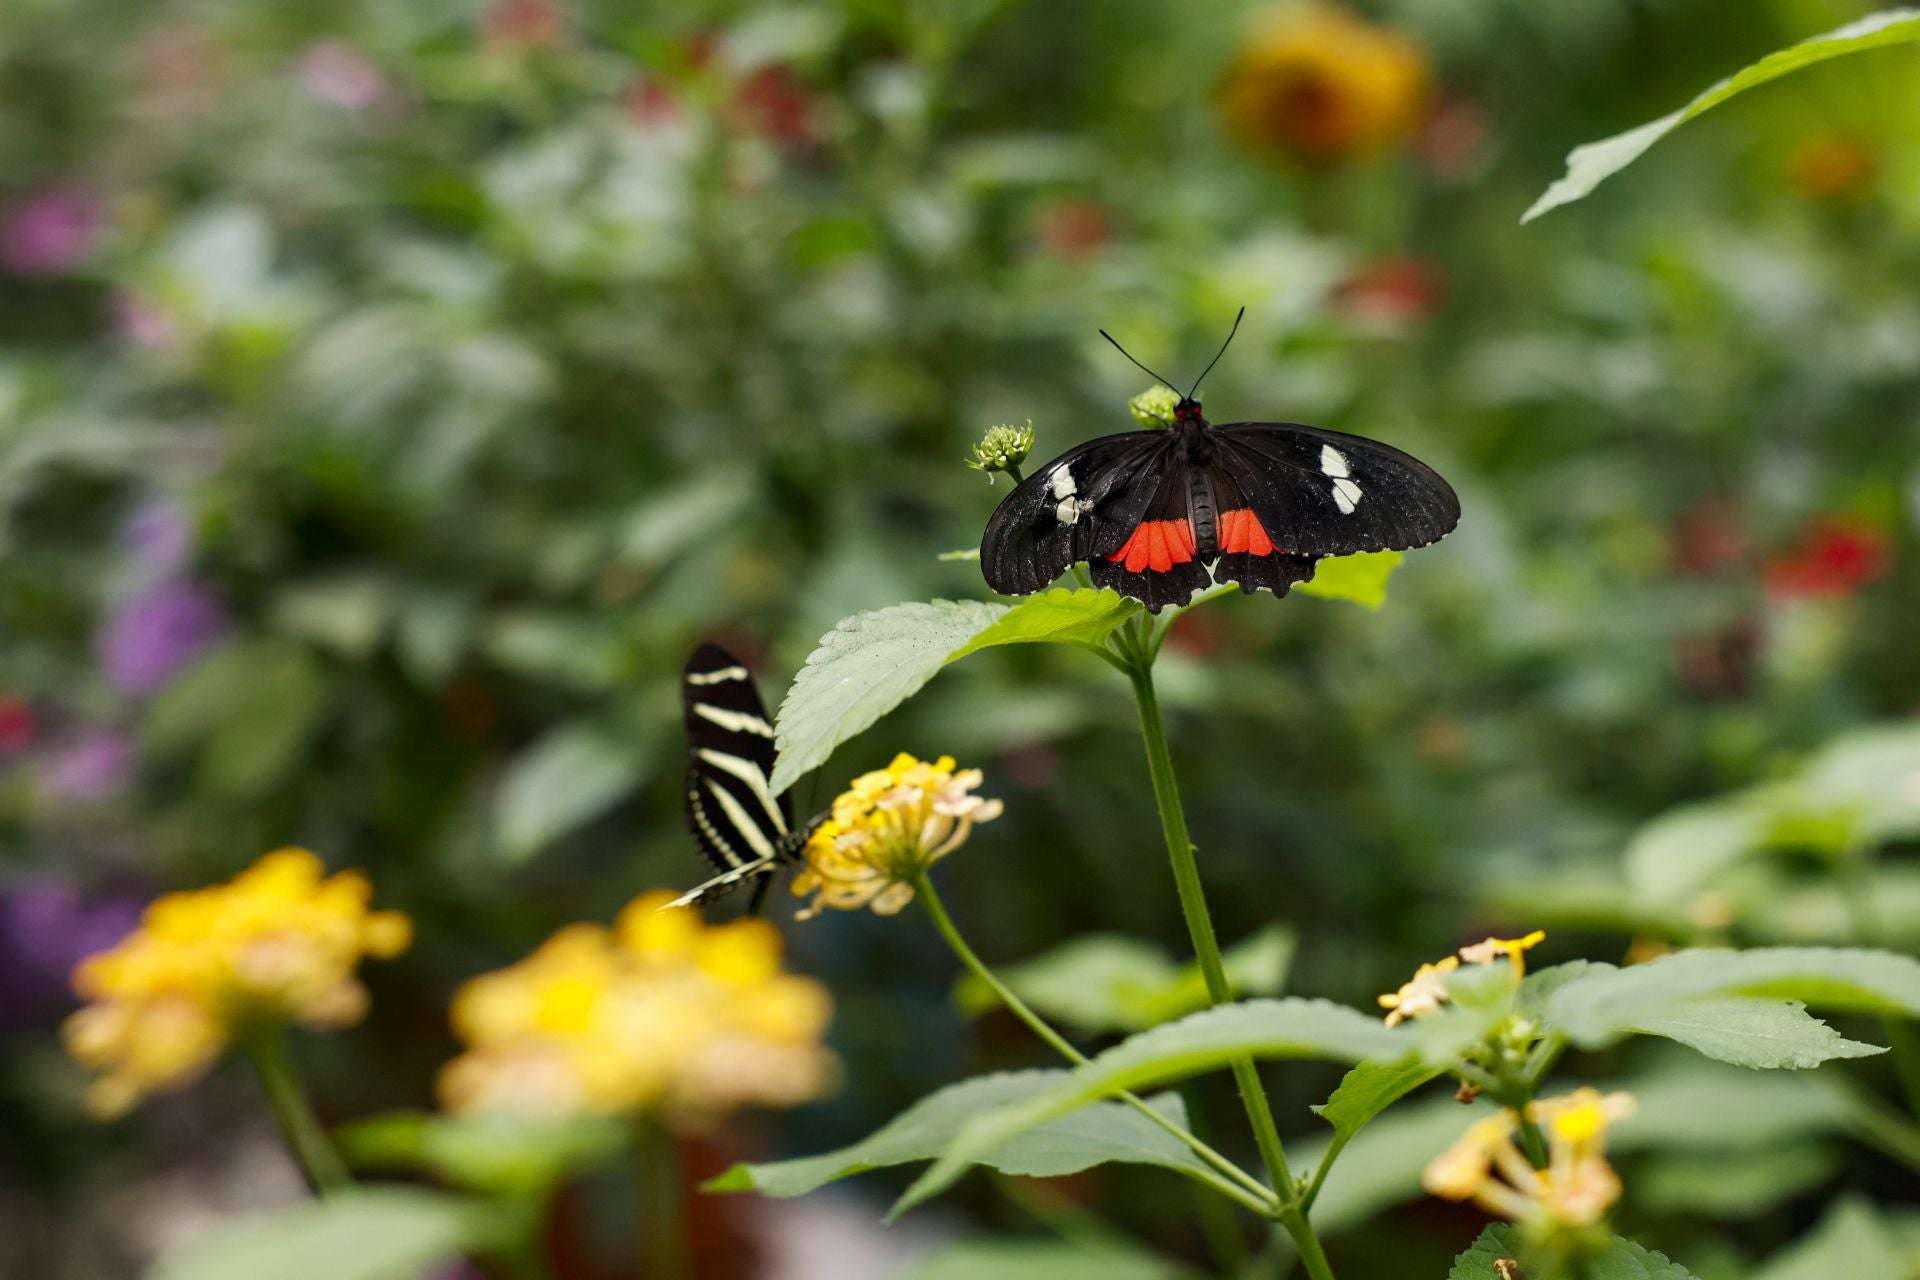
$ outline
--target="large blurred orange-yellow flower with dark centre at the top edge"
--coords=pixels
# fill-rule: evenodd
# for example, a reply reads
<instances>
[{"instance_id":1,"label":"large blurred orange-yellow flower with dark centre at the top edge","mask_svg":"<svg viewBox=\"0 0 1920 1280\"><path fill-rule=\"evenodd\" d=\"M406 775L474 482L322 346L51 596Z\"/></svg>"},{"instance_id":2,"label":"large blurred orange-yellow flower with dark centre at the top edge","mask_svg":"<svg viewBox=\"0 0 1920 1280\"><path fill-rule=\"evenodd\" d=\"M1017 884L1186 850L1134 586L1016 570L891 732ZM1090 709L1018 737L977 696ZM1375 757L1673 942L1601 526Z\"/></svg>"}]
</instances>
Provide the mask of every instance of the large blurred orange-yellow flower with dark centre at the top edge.
<instances>
[{"instance_id":1,"label":"large blurred orange-yellow flower with dark centre at the top edge","mask_svg":"<svg viewBox=\"0 0 1920 1280\"><path fill-rule=\"evenodd\" d=\"M1334 4L1263 15L1219 86L1221 117L1242 142L1315 163L1396 142L1425 102L1421 50Z\"/></svg>"}]
</instances>

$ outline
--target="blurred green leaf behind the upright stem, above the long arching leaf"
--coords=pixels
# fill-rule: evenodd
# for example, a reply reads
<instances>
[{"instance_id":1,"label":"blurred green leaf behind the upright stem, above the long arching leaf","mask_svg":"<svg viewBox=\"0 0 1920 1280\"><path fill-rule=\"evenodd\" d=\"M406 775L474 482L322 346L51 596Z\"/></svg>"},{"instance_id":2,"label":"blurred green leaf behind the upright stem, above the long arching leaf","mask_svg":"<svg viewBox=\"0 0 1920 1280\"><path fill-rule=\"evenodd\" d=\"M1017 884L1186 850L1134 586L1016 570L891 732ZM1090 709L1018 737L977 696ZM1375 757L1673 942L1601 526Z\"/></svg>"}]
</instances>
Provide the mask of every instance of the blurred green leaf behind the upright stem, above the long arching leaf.
<instances>
[{"instance_id":1,"label":"blurred green leaf behind the upright stem, above the long arching leaf","mask_svg":"<svg viewBox=\"0 0 1920 1280\"><path fill-rule=\"evenodd\" d=\"M1294 935L1269 925L1225 954L1235 998L1273 996L1286 983ZM1160 948L1117 933L1096 933L1004 969L1000 979L1021 1000L1083 1034L1146 1031L1208 1007L1198 963L1177 965ZM979 979L960 983L960 1006L970 1013L998 1007Z\"/></svg>"}]
</instances>

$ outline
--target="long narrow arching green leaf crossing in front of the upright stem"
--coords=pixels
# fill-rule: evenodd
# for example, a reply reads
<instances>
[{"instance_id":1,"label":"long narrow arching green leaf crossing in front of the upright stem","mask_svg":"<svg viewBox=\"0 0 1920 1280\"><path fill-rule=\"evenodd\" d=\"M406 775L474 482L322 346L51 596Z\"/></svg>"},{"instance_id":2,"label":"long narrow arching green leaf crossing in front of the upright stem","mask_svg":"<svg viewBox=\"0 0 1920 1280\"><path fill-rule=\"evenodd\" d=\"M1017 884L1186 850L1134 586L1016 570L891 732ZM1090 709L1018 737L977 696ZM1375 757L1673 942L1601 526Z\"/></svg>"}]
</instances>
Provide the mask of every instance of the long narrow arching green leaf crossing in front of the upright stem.
<instances>
[{"instance_id":1,"label":"long narrow arching green leaf crossing in front of the upright stem","mask_svg":"<svg viewBox=\"0 0 1920 1280\"><path fill-rule=\"evenodd\" d=\"M1221 1067L1236 1057L1323 1057L1392 1061L1411 1048L1379 1019L1325 1000L1248 1000L1144 1031L1066 1073L1023 1102L968 1121L939 1163L893 1205L891 1217L943 1192L1002 1146L1087 1103Z\"/></svg>"}]
</instances>

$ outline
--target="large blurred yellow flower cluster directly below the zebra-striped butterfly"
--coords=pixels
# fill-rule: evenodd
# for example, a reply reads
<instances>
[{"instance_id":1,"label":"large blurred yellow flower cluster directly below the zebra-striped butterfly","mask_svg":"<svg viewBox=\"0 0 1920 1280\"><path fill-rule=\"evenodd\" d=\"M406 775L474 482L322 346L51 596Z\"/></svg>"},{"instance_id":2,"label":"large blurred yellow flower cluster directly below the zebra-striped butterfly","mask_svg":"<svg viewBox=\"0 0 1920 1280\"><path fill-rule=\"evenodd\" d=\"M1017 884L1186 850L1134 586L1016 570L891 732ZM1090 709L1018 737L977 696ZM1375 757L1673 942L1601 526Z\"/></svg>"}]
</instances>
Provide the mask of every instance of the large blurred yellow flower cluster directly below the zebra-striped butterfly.
<instances>
[{"instance_id":1,"label":"large blurred yellow flower cluster directly below the zebra-striped butterfly","mask_svg":"<svg viewBox=\"0 0 1920 1280\"><path fill-rule=\"evenodd\" d=\"M570 925L520 963L467 983L453 1029L468 1046L440 1077L453 1111L624 1115L691 1128L739 1105L818 1098L837 1067L822 1046L826 990L781 973L780 933L708 927L672 892L626 906L612 929Z\"/></svg>"}]
</instances>

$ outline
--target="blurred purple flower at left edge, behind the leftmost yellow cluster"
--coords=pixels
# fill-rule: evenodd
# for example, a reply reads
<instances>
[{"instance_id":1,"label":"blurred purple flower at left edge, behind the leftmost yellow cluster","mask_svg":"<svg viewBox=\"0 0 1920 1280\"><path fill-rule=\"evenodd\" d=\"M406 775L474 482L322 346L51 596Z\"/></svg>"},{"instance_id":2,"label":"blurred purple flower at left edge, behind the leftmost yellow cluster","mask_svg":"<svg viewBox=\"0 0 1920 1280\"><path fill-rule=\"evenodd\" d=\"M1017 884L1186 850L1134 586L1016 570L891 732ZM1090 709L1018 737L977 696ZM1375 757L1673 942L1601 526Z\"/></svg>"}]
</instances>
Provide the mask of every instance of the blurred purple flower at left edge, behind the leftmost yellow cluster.
<instances>
[{"instance_id":1,"label":"blurred purple flower at left edge, behind the leftmost yellow cluster","mask_svg":"<svg viewBox=\"0 0 1920 1280\"><path fill-rule=\"evenodd\" d=\"M140 923L132 894L86 896L52 875L0 889L0 1031L69 1000L73 965Z\"/></svg>"}]
</instances>

